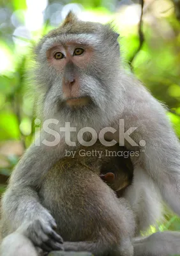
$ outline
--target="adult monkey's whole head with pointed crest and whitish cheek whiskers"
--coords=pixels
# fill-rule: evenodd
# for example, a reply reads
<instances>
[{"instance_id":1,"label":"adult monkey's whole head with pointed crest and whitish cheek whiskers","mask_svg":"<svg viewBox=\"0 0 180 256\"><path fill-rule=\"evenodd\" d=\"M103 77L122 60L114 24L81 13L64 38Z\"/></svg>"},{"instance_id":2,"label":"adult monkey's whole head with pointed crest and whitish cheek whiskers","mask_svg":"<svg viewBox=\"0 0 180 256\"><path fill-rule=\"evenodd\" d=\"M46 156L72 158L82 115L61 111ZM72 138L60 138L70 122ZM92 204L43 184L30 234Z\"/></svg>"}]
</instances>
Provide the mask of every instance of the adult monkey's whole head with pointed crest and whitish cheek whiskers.
<instances>
[{"instance_id":1,"label":"adult monkey's whole head with pointed crest and whitish cheek whiskers","mask_svg":"<svg viewBox=\"0 0 180 256\"><path fill-rule=\"evenodd\" d=\"M35 74L45 115L74 117L109 106L119 70L118 36L109 24L84 22L70 12L40 40Z\"/></svg>"}]
</instances>

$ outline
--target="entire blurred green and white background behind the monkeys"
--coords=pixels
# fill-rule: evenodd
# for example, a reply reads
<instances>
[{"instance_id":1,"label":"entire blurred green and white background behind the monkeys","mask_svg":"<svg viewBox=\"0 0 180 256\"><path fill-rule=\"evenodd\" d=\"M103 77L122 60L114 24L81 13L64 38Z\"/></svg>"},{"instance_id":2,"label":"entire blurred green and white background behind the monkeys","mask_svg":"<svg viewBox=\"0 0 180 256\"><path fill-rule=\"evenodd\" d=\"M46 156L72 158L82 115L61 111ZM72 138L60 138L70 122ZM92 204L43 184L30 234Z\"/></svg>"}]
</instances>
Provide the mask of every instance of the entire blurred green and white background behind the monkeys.
<instances>
[{"instance_id":1,"label":"entire blurred green and white background behind the monkeys","mask_svg":"<svg viewBox=\"0 0 180 256\"><path fill-rule=\"evenodd\" d=\"M82 20L113 21L124 65L167 105L180 137L180 0L0 0L0 194L38 129L36 90L26 79L30 48L70 10ZM180 230L179 219L167 211L149 232L157 229Z\"/></svg>"}]
</instances>

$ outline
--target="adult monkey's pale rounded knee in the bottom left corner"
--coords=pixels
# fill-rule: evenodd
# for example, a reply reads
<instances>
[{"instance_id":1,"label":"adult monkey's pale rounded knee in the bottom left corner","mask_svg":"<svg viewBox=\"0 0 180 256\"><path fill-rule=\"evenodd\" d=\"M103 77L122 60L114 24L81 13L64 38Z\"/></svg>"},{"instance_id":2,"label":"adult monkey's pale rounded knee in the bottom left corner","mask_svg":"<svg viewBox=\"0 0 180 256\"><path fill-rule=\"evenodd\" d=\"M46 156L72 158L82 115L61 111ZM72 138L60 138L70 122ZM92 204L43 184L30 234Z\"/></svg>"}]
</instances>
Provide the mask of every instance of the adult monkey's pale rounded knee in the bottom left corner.
<instances>
[{"instance_id":1,"label":"adult monkey's pale rounded knee in the bottom left corner","mask_svg":"<svg viewBox=\"0 0 180 256\"><path fill-rule=\"evenodd\" d=\"M41 251L33 243L17 232L6 236L0 245L1 256L40 256Z\"/></svg>"}]
</instances>

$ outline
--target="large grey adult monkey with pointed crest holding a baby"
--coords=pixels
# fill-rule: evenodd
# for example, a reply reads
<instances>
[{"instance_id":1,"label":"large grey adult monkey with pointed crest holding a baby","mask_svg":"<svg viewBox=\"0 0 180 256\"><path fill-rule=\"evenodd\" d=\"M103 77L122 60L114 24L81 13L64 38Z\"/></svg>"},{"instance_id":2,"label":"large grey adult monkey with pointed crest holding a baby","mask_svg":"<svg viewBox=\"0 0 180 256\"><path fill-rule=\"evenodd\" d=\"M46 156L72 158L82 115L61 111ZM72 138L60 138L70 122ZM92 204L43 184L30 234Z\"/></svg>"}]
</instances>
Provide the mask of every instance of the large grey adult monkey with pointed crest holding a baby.
<instances>
[{"instance_id":1,"label":"large grey adult monkey with pointed crest holding a baby","mask_svg":"<svg viewBox=\"0 0 180 256\"><path fill-rule=\"evenodd\" d=\"M139 217L138 227L142 229L153 215L155 218L159 214L157 202L157 207L148 208L150 212L146 220L140 218L144 204L154 204L150 195L153 191L155 198L158 188L164 200L180 214L180 147L163 106L133 76L127 75L123 67L119 68L119 57L117 34L110 26L81 22L70 13L63 25L51 31L36 47L36 82L41 85L44 118L59 120L54 127L58 131L65 122L77 127L77 132L88 126L98 134L110 126L117 132L113 129L114 133L108 138L121 144L124 134L119 136L119 119L124 119L125 131L138 127L131 134L133 140L126 132L126 147L143 150L134 161L134 182L124 196L130 202L136 202L142 197L138 194L141 191L139 186L145 186L142 205L132 204ZM77 132L72 134L74 141L77 141ZM42 139L53 140L52 137L41 132ZM141 140L146 141L145 147L141 146ZM3 212L12 231L37 216L40 221L49 223L49 228L54 225L49 213L38 202L36 188L52 164L64 156L66 149L69 147L61 132L59 145L45 147L41 144L37 147L33 144L24 154L3 198ZM139 184L139 179L143 180L143 185ZM149 190L148 198L150 186L154 190ZM172 234L168 234L169 241L172 241ZM179 233L177 237L180 237ZM162 239L164 236L160 234L160 243ZM148 243L146 245L147 250L144 249L142 255L151 251L152 244L150 248ZM158 250L156 255L161 253ZM165 253L179 253L179 244L176 243L174 248L169 246L168 250L165 248Z\"/></svg>"}]
</instances>

